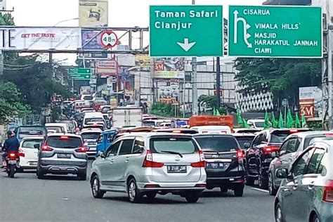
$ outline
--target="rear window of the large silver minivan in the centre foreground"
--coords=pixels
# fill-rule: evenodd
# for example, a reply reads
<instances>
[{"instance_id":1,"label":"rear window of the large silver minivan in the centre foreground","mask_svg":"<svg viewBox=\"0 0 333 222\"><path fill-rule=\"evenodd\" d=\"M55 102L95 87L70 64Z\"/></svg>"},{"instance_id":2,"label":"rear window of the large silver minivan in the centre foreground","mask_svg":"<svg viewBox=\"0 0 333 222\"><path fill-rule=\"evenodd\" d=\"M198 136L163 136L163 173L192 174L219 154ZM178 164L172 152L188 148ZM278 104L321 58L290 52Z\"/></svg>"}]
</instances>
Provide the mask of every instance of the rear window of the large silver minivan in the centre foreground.
<instances>
[{"instance_id":1,"label":"rear window of the large silver minivan in the centre foreground","mask_svg":"<svg viewBox=\"0 0 333 222\"><path fill-rule=\"evenodd\" d=\"M178 152L181 154L189 154L199 151L199 148L192 141L192 138L185 137L158 137L150 139L150 150L153 153Z\"/></svg>"}]
</instances>

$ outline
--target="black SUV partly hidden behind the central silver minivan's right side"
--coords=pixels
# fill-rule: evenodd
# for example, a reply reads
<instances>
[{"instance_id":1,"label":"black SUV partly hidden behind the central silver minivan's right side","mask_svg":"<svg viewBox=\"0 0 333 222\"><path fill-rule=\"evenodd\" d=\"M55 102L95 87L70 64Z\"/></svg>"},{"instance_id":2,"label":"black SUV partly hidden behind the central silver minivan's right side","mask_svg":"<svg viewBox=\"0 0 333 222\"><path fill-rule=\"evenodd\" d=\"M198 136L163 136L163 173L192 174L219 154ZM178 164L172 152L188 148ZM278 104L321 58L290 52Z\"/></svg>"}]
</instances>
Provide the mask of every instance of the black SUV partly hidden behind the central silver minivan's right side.
<instances>
[{"instance_id":1,"label":"black SUV partly hidden behind the central silver minivan's right side","mask_svg":"<svg viewBox=\"0 0 333 222\"><path fill-rule=\"evenodd\" d=\"M243 152L236 138L223 134L196 134L193 136L204 152L207 189L221 192L234 190L241 197L244 190Z\"/></svg>"}]
</instances>

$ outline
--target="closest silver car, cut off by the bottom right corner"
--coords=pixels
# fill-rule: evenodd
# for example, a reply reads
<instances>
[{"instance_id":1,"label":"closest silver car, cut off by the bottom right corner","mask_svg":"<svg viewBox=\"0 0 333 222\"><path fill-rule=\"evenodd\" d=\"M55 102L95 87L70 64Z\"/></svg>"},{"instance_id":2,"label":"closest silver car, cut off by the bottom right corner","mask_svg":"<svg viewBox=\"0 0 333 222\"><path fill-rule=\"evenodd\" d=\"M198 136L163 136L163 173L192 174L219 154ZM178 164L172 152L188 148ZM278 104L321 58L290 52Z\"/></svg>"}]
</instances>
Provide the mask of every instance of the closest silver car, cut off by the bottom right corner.
<instances>
[{"instance_id":1,"label":"closest silver car, cut off by the bottom right corner","mask_svg":"<svg viewBox=\"0 0 333 222\"><path fill-rule=\"evenodd\" d=\"M333 141L313 143L287 168L275 197L275 221L333 221Z\"/></svg>"}]
</instances>

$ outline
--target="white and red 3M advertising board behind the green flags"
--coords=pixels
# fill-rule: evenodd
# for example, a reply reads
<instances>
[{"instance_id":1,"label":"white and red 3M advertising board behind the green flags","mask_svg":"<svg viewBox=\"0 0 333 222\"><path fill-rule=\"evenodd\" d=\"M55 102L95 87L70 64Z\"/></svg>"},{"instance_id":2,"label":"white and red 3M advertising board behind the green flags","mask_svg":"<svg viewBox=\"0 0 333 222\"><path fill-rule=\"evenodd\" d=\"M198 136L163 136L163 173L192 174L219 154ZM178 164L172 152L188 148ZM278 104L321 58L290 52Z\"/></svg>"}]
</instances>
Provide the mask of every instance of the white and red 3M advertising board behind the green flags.
<instances>
[{"instance_id":1,"label":"white and red 3M advertising board behind the green flags","mask_svg":"<svg viewBox=\"0 0 333 222\"><path fill-rule=\"evenodd\" d=\"M322 90L317 86L299 88L299 110L306 118L322 117Z\"/></svg>"}]
</instances>

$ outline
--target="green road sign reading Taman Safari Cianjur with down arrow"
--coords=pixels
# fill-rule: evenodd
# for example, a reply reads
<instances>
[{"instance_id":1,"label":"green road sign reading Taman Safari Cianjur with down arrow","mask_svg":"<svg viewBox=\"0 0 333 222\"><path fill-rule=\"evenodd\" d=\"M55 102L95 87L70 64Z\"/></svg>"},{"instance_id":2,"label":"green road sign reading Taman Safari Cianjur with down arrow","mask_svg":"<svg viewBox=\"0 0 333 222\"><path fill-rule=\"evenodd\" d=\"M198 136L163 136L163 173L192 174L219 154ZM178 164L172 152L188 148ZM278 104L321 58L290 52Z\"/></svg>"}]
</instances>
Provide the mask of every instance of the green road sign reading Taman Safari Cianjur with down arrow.
<instances>
[{"instance_id":1,"label":"green road sign reading Taman Safari Cianjur with down arrow","mask_svg":"<svg viewBox=\"0 0 333 222\"><path fill-rule=\"evenodd\" d=\"M221 56L222 31L222 6L150 6L150 56Z\"/></svg>"}]
</instances>

